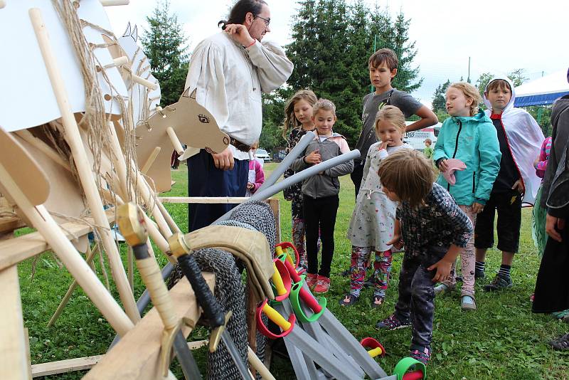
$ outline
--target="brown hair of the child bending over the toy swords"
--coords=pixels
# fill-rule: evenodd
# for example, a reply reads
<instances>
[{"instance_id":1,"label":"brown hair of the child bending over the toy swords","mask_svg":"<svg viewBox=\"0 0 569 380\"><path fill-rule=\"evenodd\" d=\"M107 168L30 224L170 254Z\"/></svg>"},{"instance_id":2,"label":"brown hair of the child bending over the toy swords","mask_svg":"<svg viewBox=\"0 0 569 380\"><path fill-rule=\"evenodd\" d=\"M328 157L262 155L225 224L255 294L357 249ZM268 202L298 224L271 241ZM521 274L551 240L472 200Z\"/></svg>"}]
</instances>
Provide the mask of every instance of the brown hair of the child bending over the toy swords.
<instances>
[{"instance_id":1,"label":"brown hair of the child bending over the toy swords","mask_svg":"<svg viewBox=\"0 0 569 380\"><path fill-rule=\"evenodd\" d=\"M415 149L400 149L390 154L381 161L378 175L385 188L412 207L424 204L435 181L432 163Z\"/></svg>"}]
</instances>

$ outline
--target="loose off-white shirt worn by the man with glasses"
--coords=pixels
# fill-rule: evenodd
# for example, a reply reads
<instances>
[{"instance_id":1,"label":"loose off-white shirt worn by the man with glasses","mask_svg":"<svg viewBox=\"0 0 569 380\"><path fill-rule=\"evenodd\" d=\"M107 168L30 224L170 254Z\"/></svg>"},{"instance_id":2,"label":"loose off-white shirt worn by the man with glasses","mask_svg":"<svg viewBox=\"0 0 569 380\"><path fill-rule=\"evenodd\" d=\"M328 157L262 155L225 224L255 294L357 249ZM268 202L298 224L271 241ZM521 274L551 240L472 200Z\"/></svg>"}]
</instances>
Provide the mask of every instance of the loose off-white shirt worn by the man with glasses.
<instances>
[{"instance_id":1,"label":"loose off-white shirt worn by the man with glasses","mask_svg":"<svg viewBox=\"0 0 569 380\"><path fill-rule=\"evenodd\" d=\"M186 88L197 88L196 101L216 118L220 130L251 145L261 134L261 93L279 88L292 73L292 62L275 43L243 48L228 33L215 34L194 49ZM235 159L248 159L229 145ZM198 151L184 154L183 159Z\"/></svg>"}]
</instances>

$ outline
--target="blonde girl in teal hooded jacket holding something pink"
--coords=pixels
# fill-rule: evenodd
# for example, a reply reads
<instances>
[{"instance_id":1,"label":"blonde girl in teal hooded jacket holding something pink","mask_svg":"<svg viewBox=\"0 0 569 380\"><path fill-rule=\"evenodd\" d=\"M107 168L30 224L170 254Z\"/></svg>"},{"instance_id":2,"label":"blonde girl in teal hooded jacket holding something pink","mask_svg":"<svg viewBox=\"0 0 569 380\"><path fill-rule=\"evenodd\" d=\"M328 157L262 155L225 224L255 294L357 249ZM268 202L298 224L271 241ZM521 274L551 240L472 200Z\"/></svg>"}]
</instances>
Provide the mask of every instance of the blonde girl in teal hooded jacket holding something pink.
<instances>
[{"instance_id":1,"label":"blonde girl in teal hooded jacket holding something pink","mask_svg":"<svg viewBox=\"0 0 569 380\"><path fill-rule=\"evenodd\" d=\"M447 112L451 116L442 123L433 160L441 172L447 171L447 159L459 159L466 169L455 171L456 182L451 185L440 174L437 183L444 186L454 197L460 209L472 221L490 197L494 180L500 170L500 146L496 128L484 112L478 112L482 101L473 85L453 83L447 90ZM474 300L474 236L460 253L462 260L463 310L476 310ZM454 267L445 282L435 287L435 293L447 292L456 285Z\"/></svg>"}]
</instances>

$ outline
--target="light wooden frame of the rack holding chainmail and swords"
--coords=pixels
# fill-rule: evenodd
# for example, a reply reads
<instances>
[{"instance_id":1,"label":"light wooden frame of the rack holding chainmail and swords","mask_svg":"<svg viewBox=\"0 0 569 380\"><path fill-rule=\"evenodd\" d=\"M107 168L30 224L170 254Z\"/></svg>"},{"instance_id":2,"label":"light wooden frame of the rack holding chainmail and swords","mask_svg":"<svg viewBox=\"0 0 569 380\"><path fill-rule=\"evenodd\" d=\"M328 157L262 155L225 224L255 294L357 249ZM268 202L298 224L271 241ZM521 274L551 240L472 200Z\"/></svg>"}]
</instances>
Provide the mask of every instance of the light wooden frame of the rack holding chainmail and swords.
<instances>
[{"instance_id":1,"label":"light wooden frame of the rack holding chainmail and swords","mask_svg":"<svg viewBox=\"0 0 569 380\"><path fill-rule=\"evenodd\" d=\"M192 199L187 197L161 198L163 202L171 203L241 203L245 199ZM269 199L275 221L277 222L277 241L280 241L280 207L278 199ZM114 210L106 211L108 223L112 222ZM63 231L68 238L75 236L85 236L90 233L90 228L82 223L64 223ZM73 234L73 235L72 235ZM0 241L0 286L4 289L4 305L11 305L6 311L3 321L11 327L1 327L2 338L0 342L0 378L1 379L30 379L38 376L50 374L60 374L69 371L80 371L91 369L85 379L159 379L159 352L160 338L163 328L162 322L154 308L137 323L134 328L129 329L124 334L119 344L117 344L107 355L97 355L93 357L83 357L67 359L62 361L52 361L41 364L30 364L28 337L23 329L21 300L19 297L19 282L16 266L21 261L39 255L50 249L49 244L43 239L40 233L28 233L18 238L10 238ZM214 275L204 273L208 285L213 289ZM189 293L188 293L189 292ZM191 317L197 321L199 317L195 299L189 295L191 286L186 279L181 280L172 290L171 296L176 303L176 312L180 317ZM9 297L9 300L8 300ZM248 300L248 342L253 352L256 350L256 324L254 300ZM8 322L9 321L9 322ZM4 323L3 322L3 323ZM18 327L19 326L19 327ZM14 328L16 327L16 328ZM183 329L184 336L188 336L191 328ZM6 334L9 334L8 337ZM193 345L188 343L188 345ZM142 351L141 351L142 350ZM144 354L142 354L144 352ZM266 361L265 361L266 364ZM129 369L126 371L125 369ZM131 376L136 374L135 376ZM156 376L154 376L156 375Z\"/></svg>"}]
</instances>

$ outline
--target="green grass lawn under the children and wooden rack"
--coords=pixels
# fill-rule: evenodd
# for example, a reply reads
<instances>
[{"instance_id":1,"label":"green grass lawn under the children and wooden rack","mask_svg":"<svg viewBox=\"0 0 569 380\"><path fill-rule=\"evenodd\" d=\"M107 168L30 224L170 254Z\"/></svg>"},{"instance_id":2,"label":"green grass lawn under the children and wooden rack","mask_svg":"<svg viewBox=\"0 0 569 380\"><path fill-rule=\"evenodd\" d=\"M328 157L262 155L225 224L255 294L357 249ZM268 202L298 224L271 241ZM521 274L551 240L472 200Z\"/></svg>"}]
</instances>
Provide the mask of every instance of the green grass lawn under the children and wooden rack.
<instances>
[{"instance_id":1,"label":"green grass lawn under the children and wooden rack","mask_svg":"<svg viewBox=\"0 0 569 380\"><path fill-rule=\"evenodd\" d=\"M275 167L276 164L265 164L265 176ZM172 176L176 184L165 195L185 196L186 166L181 165L179 170L172 171ZM277 197L281 201L282 241L290 241L290 205L282 199L282 194ZM351 246L346 239L346 229L353 205L353 184L349 176L344 176L341 178L340 208L336 218L336 250L331 290L327 295L328 305L356 339L375 337L383 344L387 356L379 359L379 363L389 374L399 359L408 354L411 332L410 329L378 332L374 325L377 320L393 312L402 255L396 254L394 257L393 280L385 304L378 310L371 309L371 290L363 290L360 301L353 307L338 305L339 298L349 290L349 279L342 278L339 273L349 266ZM186 205L166 204L166 209L180 228L186 231ZM124 247L122 253L124 257ZM514 287L499 294L485 293L480 285L491 280L494 270L499 268L500 259L497 250L489 251L486 264L488 278L477 283L477 312L460 310L458 292L437 297L433 356L427 366L428 379L569 379L569 352L555 352L546 344L548 339L567 332L569 325L547 315L531 313L529 297L539 267L531 239L531 210L523 210L520 252L516 255L512 270ZM162 265L165 264L161 256L159 260ZM18 272L32 364L104 354L115 334L80 289L76 290L57 324L51 329L46 327L73 278L65 268L58 267L53 256L44 254L38 259L36 274L31 280L31 263L32 260L26 260L18 265ZM135 276L135 296L139 297L142 290L142 283ZM114 289L113 295L117 297ZM205 337L203 329L196 329L190 339ZM205 350L198 350L194 354L205 374ZM177 364L172 368L181 378ZM294 379L294 371L282 359L273 361L272 371L277 379ZM79 379L83 374L75 372L46 376L45 379Z\"/></svg>"}]
</instances>

